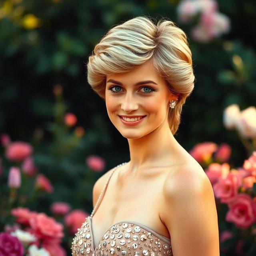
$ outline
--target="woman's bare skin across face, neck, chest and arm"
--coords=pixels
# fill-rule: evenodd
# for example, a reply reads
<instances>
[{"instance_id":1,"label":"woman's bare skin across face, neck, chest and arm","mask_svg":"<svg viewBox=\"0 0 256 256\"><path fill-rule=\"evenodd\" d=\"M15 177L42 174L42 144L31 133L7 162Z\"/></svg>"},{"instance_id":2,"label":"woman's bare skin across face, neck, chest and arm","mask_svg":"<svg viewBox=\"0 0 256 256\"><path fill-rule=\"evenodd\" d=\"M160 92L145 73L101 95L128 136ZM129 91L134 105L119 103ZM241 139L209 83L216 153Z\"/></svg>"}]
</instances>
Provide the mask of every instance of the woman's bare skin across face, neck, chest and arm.
<instances>
[{"instance_id":1,"label":"woman's bare skin across face, neck, chest and arm","mask_svg":"<svg viewBox=\"0 0 256 256\"><path fill-rule=\"evenodd\" d=\"M135 86L146 80L155 84ZM111 87L118 92L111 92ZM148 91L152 92L146 94ZM128 140L130 161L113 174L94 213L94 244L112 224L131 220L171 237L175 256L218 256L212 186L202 167L176 141L168 125L169 102L179 94L168 91L151 62L126 73L110 74L106 77L105 92L108 116ZM138 125L126 126L118 115L146 117ZM94 206L110 172L94 185Z\"/></svg>"}]
</instances>

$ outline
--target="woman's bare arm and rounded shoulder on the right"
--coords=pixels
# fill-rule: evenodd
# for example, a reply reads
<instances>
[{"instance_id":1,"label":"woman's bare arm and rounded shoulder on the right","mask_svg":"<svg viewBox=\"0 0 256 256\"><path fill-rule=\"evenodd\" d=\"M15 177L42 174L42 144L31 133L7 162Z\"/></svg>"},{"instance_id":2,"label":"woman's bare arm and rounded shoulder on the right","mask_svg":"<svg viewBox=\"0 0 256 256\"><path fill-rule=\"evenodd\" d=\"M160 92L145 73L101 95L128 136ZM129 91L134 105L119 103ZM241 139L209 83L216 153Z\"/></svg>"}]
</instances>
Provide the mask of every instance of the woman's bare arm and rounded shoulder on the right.
<instances>
[{"instance_id":1,"label":"woman's bare arm and rounded shoulder on the right","mask_svg":"<svg viewBox=\"0 0 256 256\"><path fill-rule=\"evenodd\" d=\"M219 256L218 216L210 180L191 164L164 184L164 223L174 256Z\"/></svg>"}]
</instances>

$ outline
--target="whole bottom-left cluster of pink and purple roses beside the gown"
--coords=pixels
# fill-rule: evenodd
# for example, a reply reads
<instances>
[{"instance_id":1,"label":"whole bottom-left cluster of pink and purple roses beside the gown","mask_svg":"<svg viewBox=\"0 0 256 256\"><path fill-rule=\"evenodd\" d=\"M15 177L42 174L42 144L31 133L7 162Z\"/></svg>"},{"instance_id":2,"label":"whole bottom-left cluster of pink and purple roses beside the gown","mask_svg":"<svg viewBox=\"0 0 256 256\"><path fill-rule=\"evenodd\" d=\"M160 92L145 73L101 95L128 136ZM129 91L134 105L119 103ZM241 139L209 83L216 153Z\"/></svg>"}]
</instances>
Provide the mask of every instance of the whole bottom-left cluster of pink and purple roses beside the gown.
<instances>
[{"instance_id":1,"label":"whole bottom-left cluster of pink and purple roses beside the gown","mask_svg":"<svg viewBox=\"0 0 256 256\"><path fill-rule=\"evenodd\" d=\"M79 209L70 211L70 208L66 202L54 202L50 206L55 215L64 217L64 224L69 233L73 235L89 214ZM12 227L6 225L4 232L0 233L0 256L23 256L26 248L30 250L32 246L36 246L38 253L39 248L42 248L50 256L66 256L61 246L64 236L64 226L61 223L43 212L31 211L23 207L13 208L11 214L16 217L16 222ZM24 230L21 230L21 227L24 227ZM25 243L24 237L19 238L14 234L15 232L22 234L23 231L26 236L29 235L33 239L30 238L31 240Z\"/></svg>"}]
</instances>

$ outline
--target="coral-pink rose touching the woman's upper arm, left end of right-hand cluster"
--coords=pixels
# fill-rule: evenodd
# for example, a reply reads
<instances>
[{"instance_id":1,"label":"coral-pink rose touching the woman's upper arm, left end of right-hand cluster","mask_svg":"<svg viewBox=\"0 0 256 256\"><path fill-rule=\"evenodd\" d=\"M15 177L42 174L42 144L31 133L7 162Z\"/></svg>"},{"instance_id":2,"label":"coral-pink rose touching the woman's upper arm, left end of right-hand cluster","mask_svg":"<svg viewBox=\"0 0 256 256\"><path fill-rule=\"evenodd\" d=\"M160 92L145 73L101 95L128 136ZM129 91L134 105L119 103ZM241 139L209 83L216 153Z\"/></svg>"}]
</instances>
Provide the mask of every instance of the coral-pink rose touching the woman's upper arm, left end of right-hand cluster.
<instances>
[{"instance_id":1,"label":"coral-pink rose touching the woman's upper arm, left end of right-hand cluster","mask_svg":"<svg viewBox=\"0 0 256 256\"><path fill-rule=\"evenodd\" d=\"M212 186L218 181L219 178L226 178L229 172L230 172L230 166L227 163L224 163L224 164L212 163L205 170L205 173L208 176Z\"/></svg>"}]
</instances>

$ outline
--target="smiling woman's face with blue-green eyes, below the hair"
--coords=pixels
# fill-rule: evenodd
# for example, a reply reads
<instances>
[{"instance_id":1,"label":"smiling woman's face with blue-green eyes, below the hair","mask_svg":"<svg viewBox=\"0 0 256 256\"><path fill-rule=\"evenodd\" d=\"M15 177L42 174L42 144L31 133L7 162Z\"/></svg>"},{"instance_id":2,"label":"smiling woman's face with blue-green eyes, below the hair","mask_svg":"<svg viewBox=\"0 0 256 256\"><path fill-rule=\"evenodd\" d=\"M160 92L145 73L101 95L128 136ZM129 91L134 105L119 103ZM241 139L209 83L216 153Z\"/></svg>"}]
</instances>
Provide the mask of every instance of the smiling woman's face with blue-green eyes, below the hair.
<instances>
[{"instance_id":1,"label":"smiling woman's face with blue-green eyes, below the hair","mask_svg":"<svg viewBox=\"0 0 256 256\"><path fill-rule=\"evenodd\" d=\"M177 98L170 94L151 62L126 73L108 75L105 96L111 122L122 136L130 139L141 138L168 124L169 100ZM140 120L136 121L136 117Z\"/></svg>"}]
</instances>

